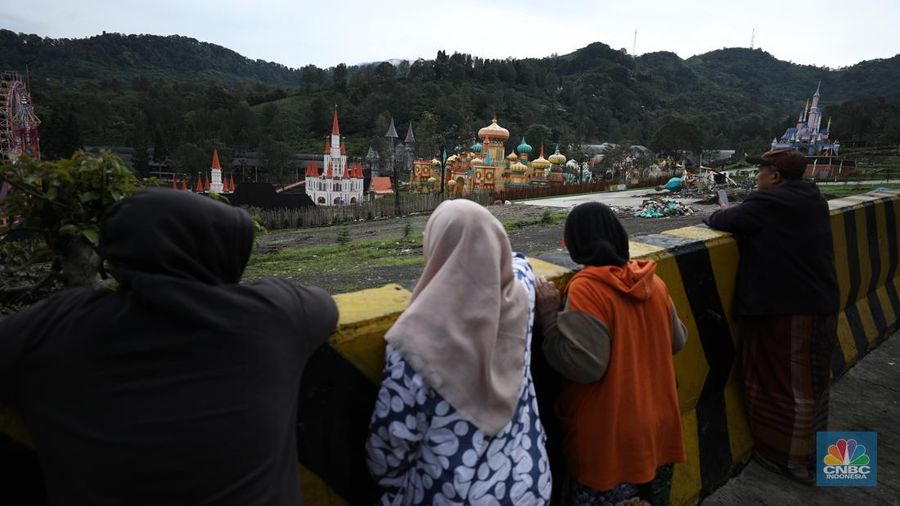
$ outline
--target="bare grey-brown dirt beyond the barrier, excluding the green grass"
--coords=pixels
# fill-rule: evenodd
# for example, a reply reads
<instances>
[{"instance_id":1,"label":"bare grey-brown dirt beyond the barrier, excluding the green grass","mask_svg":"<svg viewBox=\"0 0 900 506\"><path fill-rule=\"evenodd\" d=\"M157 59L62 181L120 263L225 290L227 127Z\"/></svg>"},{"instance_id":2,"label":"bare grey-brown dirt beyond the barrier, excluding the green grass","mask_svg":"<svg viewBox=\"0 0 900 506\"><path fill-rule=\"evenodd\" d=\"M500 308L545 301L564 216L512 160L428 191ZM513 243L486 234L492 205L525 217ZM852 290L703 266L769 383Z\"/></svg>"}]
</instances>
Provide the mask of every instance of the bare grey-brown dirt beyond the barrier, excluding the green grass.
<instances>
[{"instance_id":1,"label":"bare grey-brown dirt beyond the barrier, excluding the green grass","mask_svg":"<svg viewBox=\"0 0 900 506\"><path fill-rule=\"evenodd\" d=\"M629 235L634 237L699 224L704 217L717 209L714 205L703 204L694 204L691 207L696 212L690 216L648 219L635 218L630 214L623 213L620 214L620 219ZM562 221L566 211L517 204L492 205L487 206L487 209L507 225L510 243L514 251L520 251L529 256L540 256L559 250L563 230ZM553 213L555 223L541 222L547 209ZM333 247L341 241L349 241L347 246L351 249L354 244L366 241L400 241L404 232L407 232L407 224L409 224L409 235L416 236L422 233L427 220L427 215L421 215L332 227L277 230L261 239L254 255L275 253L285 248ZM342 232L342 229L346 229L346 232ZM422 254L421 244L410 245L409 248L403 250L403 253L420 256ZM421 265L385 265L335 272L334 269L327 268L328 258L321 258L317 261L322 262L322 269L307 269L302 276L293 276L289 272L281 276L298 284L321 286L331 293L344 293L379 287L387 283L400 283L407 288L412 288L422 269Z\"/></svg>"}]
</instances>

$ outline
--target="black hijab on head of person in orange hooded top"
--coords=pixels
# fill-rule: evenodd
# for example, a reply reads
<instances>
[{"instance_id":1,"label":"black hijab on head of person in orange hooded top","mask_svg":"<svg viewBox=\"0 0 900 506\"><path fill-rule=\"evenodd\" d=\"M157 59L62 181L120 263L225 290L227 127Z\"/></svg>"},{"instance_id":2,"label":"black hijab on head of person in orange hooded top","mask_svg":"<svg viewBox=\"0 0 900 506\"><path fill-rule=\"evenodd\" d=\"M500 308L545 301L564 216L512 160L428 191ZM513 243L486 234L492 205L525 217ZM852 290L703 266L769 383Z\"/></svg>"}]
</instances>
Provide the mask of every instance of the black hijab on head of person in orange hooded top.
<instances>
[{"instance_id":1,"label":"black hijab on head of person in orange hooded top","mask_svg":"<svg viewBox=\"0 0 900 506\"><path fill-rule=\"evenodd\" d=\"M566 248L576 263L602 267L628 262L628 233L606 204L585 202L566 218Z\"/></svg>"}]
</instances>

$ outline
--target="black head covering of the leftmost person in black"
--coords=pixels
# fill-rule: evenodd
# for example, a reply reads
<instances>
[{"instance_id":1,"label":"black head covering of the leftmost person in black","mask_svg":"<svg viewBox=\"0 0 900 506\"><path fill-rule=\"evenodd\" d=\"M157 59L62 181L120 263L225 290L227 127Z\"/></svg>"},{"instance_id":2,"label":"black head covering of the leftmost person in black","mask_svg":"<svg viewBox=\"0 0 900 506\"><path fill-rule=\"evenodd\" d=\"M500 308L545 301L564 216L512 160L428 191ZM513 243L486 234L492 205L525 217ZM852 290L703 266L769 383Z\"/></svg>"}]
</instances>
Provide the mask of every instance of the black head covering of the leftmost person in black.
<instances>
[{"instance_id":1,"label":"black head covering of the leftmost person in black","mask_svg":"<svg viewBox=\"0 0 900 506\"><path fill-rule=\"evenodd\" d=\"M100 230L100 256L125 289L159 276L237 283L252 248L253 223L243 209L169 189L116 202Z\"/></svg>"}]
</instances>

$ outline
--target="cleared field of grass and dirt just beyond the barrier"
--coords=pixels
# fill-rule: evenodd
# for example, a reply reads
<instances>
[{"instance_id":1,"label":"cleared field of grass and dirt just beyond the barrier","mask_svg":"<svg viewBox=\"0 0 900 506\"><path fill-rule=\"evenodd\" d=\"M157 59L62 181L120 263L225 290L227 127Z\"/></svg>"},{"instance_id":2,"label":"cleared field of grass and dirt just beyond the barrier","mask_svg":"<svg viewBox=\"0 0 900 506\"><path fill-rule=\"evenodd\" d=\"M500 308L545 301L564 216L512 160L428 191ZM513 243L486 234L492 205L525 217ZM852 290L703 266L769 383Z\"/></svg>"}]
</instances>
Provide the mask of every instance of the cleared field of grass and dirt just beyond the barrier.
<instances>
[{"instance_id":1,"label":"cleared field of grass and dirt just beyond the barrier","mask_svg":"<svg viewBox=\"0 0 900 506\"><path fill-rule=\"evenodd\" d=\"M876 187L900 184L823 187L829 198L865 193ZM648 190L647 193L653 193ZM592 194L598 198L614 192ZM701 200L698 195L696 200ZM733 199L734 200L734 199ZM635 218L620 214L632 237L697 225L717 209L711 204L691 204L690 216ZM568 209L539 205L493 205L488 210L503 223L515 251L539 256L559 251ZM411 288L418 278L422 258L422 231L427 215L365 221L332 227L277 230L259 241L244 280L282 277L298 284L321 286L331 293L400 283Z\"/></svg>"}]
</instances>

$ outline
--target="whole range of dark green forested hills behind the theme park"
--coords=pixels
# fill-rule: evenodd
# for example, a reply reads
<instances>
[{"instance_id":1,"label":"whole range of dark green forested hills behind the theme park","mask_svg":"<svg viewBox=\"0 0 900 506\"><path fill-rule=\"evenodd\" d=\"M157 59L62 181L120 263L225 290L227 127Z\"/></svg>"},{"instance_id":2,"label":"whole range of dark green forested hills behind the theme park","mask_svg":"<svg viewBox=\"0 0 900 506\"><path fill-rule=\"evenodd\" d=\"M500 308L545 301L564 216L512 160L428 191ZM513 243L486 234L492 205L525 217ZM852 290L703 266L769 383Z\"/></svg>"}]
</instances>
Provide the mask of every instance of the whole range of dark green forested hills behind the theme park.
<instances>
[{"instance_id":1,"label":"whole range of dark green forested hills behind the theme park","mask_svg":"<svg viewBox=\"0 0 900 506\"><path fill-rule=\"evenodd\" d=\"M844 145L900 143L900 56L832 70L759 49L634 58L594 43L546 58L439 51L399 65L292 70L185 37L0 31L0 69L26 64L49 157L80 145L152 147L189 169L218 148L226 165L230 153L253 150L277 168L290 152L322 149L335 104L354 157L383 143L392 116L401 135L414 124L427 157L467 145L495 115L513 141L524 135L535 148L609 141L750 152L796 122L820 81L820 105Z\"/></svg>"}]
</instances>

